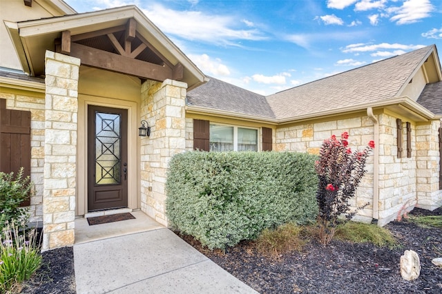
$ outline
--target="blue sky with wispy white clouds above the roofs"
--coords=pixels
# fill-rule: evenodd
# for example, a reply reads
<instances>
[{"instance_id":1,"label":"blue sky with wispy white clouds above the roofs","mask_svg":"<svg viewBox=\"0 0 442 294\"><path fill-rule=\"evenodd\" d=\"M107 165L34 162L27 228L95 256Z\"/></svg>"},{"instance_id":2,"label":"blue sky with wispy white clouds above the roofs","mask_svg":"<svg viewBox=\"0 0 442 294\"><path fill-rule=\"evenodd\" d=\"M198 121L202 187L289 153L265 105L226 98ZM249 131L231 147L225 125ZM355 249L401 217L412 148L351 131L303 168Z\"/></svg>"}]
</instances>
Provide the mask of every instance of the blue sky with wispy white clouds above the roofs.
<instances>
[{"instance_id":1,"label":"blue sky with wispy white clouds above the roofs","mask_svg":"<svg viewBox=\"0 0 442 294\"><path fill-rule=\"evenodd\" d=\"M135 5L207 75L259 94L436 44L442 0L65 0Z\"/></svg>"}]
</instances>

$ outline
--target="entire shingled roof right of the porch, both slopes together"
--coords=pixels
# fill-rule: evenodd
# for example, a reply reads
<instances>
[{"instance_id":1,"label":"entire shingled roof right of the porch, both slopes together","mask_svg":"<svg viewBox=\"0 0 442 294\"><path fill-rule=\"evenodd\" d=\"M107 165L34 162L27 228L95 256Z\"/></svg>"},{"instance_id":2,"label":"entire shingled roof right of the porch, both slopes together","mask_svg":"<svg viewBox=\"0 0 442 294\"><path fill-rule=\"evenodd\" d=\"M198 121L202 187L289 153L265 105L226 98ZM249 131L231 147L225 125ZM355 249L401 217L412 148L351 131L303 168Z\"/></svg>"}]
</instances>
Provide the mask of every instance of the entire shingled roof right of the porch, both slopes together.
<instances>
[{"instance_id":1,"label":"entire shingled roof right of the porch, both slopes together","mask_svg":"<svg viewBox=\"0 0 442 294\"><path fill-rule=\"evenodd\" d=\"M208 83L188 92L188 105L209 112L209 109L215 109L282 122L333 111L338 114L343 109L363 109L369 104L382 105L401 96L433 50L436 50L435 46L430 45L267 97L210 78ZM428 86L427 91L432 89ZM425 107L423 103L421 105Z\"/></svg>"}]
</instances>

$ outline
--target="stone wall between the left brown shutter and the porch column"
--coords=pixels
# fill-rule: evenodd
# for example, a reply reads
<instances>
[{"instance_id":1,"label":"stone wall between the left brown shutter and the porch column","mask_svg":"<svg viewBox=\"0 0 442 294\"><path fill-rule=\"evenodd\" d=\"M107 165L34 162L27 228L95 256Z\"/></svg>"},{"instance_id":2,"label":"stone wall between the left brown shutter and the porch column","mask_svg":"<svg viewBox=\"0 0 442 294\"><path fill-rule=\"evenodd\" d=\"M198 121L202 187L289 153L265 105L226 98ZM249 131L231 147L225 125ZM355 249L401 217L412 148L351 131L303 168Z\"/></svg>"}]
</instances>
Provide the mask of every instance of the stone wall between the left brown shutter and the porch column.
<instances>
[{"instance_id":1,"label":"stone wall between the left brown shutter and the porch column","mask_svg":"<svg viewBox=\"0 0 442 294\"><path fill-rule=\"evenodd\" d=\"M44 190L44 120L45 100L39 95L0 93L6 99L6 108L30 110L30 179L34 183L34 193L30 198L30 222L43 221L43 190Z\"/></svg>"}]
</instances>

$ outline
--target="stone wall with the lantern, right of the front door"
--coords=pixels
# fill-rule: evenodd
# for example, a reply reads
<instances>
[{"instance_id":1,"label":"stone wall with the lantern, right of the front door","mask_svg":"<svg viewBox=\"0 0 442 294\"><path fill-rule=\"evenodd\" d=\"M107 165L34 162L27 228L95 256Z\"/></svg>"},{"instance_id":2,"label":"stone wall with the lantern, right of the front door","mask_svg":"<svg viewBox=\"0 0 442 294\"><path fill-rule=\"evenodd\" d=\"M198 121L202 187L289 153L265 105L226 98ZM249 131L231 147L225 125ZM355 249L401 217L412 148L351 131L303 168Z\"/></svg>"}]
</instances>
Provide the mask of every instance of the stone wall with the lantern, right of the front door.
<instances>
[{"instance_id":1,"label":"stone wall with the lantern, right of the front door","mask_svg":"<svg viewBox=\"0 0 442 294\"><path fill-rule=\"evenodd\" d=\"M186 83L171 80L142 85L141 119L152 129L150 137L141 138L141 208L164 225L169 161L186 150L186 89Z\"/></svg>"}]
</instances>

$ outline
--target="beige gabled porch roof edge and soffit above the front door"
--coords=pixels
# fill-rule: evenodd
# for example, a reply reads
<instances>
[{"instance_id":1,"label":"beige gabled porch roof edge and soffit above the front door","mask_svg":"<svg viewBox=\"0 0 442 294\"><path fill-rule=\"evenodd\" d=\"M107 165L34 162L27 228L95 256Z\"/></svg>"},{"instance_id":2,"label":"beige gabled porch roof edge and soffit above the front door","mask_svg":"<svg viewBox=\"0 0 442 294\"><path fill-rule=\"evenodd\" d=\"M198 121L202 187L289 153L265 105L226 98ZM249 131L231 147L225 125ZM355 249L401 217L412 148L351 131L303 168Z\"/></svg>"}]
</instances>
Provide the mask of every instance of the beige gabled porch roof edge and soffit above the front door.
<instances>
[{"instance_id":1,"label":"beige gabled porch roof edge and soffit above the front door","mask_svg":"<svg viewBox=\"0 0 442 294\"><path fill-rule=\"evenodd\" d=\"M5 21L5 24L23 70L32 76L40 76L44 74L44 54L46 50L54 50L55 40L61 38L61 32L68 31L72 38L97 31L106 34L106 30L124 27L131 19L137 23L136 38L140 36L148 40L153 50L164 57L167 65L182 65L181 81L187 83L190 89L206 81L206 76L198 67L136 6L17 23Z\"/></svg>"}]
</instances>

